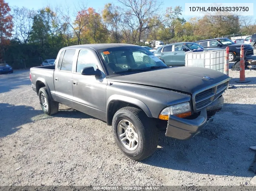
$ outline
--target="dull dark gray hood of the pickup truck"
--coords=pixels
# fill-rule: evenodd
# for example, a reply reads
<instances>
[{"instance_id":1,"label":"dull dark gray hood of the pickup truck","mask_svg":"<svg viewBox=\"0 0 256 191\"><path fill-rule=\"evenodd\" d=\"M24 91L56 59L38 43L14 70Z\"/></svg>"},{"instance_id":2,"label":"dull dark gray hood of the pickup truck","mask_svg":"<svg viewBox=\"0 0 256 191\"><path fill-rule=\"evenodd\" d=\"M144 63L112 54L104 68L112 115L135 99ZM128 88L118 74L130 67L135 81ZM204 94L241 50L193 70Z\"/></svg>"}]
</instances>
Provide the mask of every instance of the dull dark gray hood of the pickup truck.
<instances>
[{"instance_id":1,"label":"dull dark gray hood of the pickup truck","mask_svg":"<svg viewBox=\"0 0 256 191\"><path fill-rule=\"evenodd\" d=\"M184 66L115 76L108 78L108 81L152 86L192 94L196 90L228 79L227 75L215 70Z\"/></svg>"}]
</instances>

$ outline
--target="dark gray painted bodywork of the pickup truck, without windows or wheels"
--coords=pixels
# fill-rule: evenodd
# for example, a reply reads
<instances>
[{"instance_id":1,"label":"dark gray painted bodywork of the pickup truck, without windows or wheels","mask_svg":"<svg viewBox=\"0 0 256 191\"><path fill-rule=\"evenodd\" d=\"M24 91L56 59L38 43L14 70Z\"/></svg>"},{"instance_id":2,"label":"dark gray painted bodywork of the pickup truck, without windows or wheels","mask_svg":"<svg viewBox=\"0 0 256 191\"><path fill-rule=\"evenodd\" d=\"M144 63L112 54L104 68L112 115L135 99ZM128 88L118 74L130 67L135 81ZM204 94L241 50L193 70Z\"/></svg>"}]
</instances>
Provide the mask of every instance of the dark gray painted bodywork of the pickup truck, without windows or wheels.
<instances>
[{"instance_id":1,"label":"dark gray painted bodywork of the pickup truck, without windows or wheels","mask_svg":"<svg viewBox=\"0 0 256 191\"><path fill-rule=\"evenodd\" d=\"M44 84L51 94L51 98L83 113L107 121L111 125L111 104L121 101L141 108L148 117L158 118L161 111L170 105L190 102L193 113L192 95L195 91L207 89L219 82L228 82L229 77L221 72L199 67L170 67L131 75L107 77L101 59L96 49L108 47L135 46L125 44L94 44L70 46L61 49L58 53L55 66L41 66L30 69L32 88L38 93L40 84ZM62 50L76 49L72 72L58 69L58 60ZM88 49L93 56L98 57L97 67L101 71L100 77L85 76L75 72L76 60L80 49ZM55 69L54 69L55 67ZM206 76L206 78L205 78ZM214 103L217 103L215 101ZM223 100L218 104L211 103L208 108L214 110L222 107ZM204 113L205 107L201 110ZM206 124L207 116L200 114L200 119L183 119L170 116L168 121L167 136L178 139L187 139L196 134L193 129L198 126L201 130ZM194 121L196 120L196 121ZM170 123L174 123L170 126ZM191 125L189 125L189 123ZM189 137L180 137L170 129L178 126L192 128ZM179 128L179 131L182 128ZM184 129L184 128L183 128ZM199 131L196 130L196 131ZM170 132L171 131L171 132ZM177 131L178 132L178 131ZM180 132L179 132L180 133ZM184 134L185 135L185 134Z\"/></svg>"}]
</instances>

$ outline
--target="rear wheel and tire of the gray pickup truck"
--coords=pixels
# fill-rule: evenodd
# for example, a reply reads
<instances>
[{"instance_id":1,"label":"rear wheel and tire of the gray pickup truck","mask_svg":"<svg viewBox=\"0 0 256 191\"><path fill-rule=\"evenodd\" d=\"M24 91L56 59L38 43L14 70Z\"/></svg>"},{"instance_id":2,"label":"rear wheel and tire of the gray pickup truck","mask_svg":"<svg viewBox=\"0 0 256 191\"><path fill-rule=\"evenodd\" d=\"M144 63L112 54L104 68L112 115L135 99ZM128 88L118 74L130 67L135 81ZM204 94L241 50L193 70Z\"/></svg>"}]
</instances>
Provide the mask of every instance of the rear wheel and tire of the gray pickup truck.
<instances>
[{"instance_id":1,"label":"rear wheel and tire of the gray pickup truck","mask_svg":"<svg viewBox=\"0 0 256 191\"><path fill-rule=\"evenodd\" d=\"M51 100L46 87L39 89L38 97L39 97L39 103L45 114L53 115L58 112L59 103L57 101ZM46 105L44 105L44 103L46 103Z\"/></svg>"}]
</instances>

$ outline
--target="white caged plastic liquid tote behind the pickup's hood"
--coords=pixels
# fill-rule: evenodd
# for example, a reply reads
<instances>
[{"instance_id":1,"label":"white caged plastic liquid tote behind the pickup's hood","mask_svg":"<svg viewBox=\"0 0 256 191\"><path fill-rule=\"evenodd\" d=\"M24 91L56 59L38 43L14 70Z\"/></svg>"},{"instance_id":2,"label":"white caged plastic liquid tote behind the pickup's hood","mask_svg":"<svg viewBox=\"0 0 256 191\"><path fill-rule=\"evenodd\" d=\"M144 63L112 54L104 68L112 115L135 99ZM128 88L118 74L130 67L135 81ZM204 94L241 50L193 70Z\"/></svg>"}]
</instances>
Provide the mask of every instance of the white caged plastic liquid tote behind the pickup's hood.
<instances>
[{"instance_id":1,"label":"white caged plastic liquid tote behind the pickup's hood","mask_svg":"<svg viewBox=\"0 0 256 191\"><path fill-rule=\"evenodd\" d=\"M198 66L224 73L225 50L185 52L185 66Z\"/></svg>"}]
</instances>

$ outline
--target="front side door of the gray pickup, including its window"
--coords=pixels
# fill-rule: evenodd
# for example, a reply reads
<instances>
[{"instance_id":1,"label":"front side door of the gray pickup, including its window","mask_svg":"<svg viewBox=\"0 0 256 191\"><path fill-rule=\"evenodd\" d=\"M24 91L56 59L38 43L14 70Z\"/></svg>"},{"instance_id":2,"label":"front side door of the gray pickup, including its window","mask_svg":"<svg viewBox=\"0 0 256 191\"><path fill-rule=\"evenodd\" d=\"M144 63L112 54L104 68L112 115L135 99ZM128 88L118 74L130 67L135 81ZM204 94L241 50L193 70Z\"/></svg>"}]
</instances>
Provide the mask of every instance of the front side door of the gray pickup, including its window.
<instances>
[{"instance_id":1,"label":"front side door of the gray pickup, including its window","mask_svg":"<svg viewBox=\"0 0 256 191\"><path fill-rule=\"evenodd\" d=\"M81 75L81 70L92 66L101 70L101 77ZM96 118L106 120L107 80L96 53L82 49L78 53L77 65L72 76L73 107Z\"/></svg>"}]
</instances>

